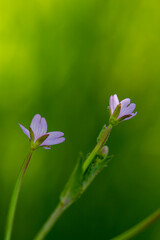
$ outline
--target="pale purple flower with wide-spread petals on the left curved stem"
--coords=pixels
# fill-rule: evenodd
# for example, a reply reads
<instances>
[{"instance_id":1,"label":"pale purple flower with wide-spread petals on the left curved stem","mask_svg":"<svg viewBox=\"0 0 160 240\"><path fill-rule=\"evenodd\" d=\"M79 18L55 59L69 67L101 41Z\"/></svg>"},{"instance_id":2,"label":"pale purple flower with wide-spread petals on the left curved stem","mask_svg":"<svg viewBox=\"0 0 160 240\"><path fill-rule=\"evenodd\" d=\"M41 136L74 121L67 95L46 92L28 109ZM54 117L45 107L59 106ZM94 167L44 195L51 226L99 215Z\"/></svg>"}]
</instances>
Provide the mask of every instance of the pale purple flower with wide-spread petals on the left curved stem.
<instances>
[{"instance_id":1,"label":"pale purple flower with wide-spread petals on the left curved stem","mask_svg":"<svg viewBox=\"0 0 160 240\"><path fill-rule=\"evenodd\" d=\"M35 150L38 147L44 147L45 149L50 149L51 145L59 144L65 141L62 137L64 133L62 132L48 132L47 133L47 122L45 118L42 118L39 114L36 114L32 121L29 130L26 129L19 123L24 134L31 141L31 148Z\"/></svg>"}]
</instances>

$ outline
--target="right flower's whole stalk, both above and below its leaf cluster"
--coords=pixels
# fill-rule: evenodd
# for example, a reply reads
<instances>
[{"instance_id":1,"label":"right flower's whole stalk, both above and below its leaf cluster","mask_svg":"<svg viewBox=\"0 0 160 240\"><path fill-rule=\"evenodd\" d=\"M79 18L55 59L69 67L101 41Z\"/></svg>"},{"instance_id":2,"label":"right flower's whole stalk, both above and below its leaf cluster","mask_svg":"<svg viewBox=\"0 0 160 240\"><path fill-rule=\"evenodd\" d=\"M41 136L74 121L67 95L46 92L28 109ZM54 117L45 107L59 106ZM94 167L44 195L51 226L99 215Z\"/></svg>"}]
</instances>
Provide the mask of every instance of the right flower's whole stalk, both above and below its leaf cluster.
<instances>
[{"instance_id":1,"label":"right flower's whole stalk, both above and below its leaf cluster","mask_svg":"<svg viewBox=\"0 0 160 240\"><path fill-rule=\"evenodd\" d=\"M85 172L90 165L90 163L93 161L95 158L96 154L101 150L105 142L108 140L109 134L112 130L112 125L110 124L103 132L101 139L93 149L93 151L90 153L88 158L83 164L83 172ZM34 240L42 240L44 237L47 235L47 233L52 229L52 227L55 225L56 221L58 218L62 215L64 210L68 208L70 205L72 205L73 202L67 203L67 205L62 204L61 202L57 206L57 208L53 211L51 216L47 219L45 224L42 226L40 229L39 233L36 235Z\"/></svg>"}]
</instances>

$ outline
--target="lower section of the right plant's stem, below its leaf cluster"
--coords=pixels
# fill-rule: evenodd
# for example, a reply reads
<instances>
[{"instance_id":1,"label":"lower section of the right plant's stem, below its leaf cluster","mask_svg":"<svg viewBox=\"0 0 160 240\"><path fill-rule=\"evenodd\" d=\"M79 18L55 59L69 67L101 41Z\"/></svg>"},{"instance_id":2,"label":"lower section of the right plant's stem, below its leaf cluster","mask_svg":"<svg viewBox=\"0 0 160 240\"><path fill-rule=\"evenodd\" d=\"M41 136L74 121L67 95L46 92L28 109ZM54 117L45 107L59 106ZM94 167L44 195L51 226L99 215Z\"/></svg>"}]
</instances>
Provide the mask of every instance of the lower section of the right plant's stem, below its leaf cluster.
<instances>
[{"instance_id":1,"label":"lower section of the right plant's stem, below its leaf cluster","mask_svg":"<svg viewBox=\"0 0 160 240\"><path fill-rule=\"evenodd\" d=\"M67 205L68 206L68 205ZM61 214L65 211L67 208L64 204L60 203L54 212L51 214L51 216L48 218L46 223L43 225L39 233L36 235L34 240L42 240L47 235L47 233L51 230L51 228L54 226L58 218L61 216Z\"/></svg>"}]
</instances>

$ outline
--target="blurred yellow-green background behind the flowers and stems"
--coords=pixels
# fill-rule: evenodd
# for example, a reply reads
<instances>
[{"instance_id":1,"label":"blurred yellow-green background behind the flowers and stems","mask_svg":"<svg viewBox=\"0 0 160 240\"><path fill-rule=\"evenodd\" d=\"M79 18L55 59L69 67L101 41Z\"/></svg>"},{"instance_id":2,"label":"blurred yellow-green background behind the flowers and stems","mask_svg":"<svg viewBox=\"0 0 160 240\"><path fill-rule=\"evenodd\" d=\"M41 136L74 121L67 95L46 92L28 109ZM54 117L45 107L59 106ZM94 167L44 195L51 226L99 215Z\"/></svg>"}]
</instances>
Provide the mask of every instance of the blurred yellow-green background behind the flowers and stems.
<instances>
[{"instance_id":1,"label":"blurred yellow-green background behind the flowers and stems","mask_svg":"<svg viewBox=\"0 0 160 240\"><path fill-rule=\"evenodd\" d=\"M78 154L108 122L109 96L137 116L115 127L113 161L59 219L47 240L108 240L160 206L160 3L158 0L1 1L0 239L28 138L39 113L66 141L34 153L13 240L33 239L58 203ZM160 222L136 240L160 239Z\"/></svg>"}]
</instances>

